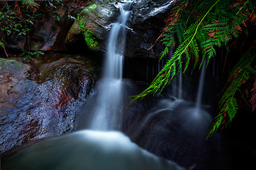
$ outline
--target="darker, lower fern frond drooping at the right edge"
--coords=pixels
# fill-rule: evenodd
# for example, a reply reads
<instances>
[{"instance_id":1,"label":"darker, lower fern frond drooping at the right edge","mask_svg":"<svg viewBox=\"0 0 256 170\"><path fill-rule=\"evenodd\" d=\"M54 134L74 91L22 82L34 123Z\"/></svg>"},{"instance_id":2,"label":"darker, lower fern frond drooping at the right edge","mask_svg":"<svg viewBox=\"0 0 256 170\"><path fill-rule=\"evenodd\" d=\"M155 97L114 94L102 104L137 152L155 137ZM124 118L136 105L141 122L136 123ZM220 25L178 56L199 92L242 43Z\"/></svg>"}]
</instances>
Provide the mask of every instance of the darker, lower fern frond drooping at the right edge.
<instances>
[{"instance_id":1,"label":"darker, lower fern frond drooping at the right edge","mask_svg":"<svg viewBox=\"0 0 256 170\"><path fill-rule=\"evenodd\" d=\"M238 101L235 94L237 91L240 91L240 86L245 84L248 79L247 75L252 72L249 68L256 55L256 42L252 47L253 49L250 48L250 50L240 58L240 61L235 65L228 78L225 92L218 104L218 115L213 121L213 125L210 127L208 137L213 135L214 132L220 128L220 125L230 125L235 114L238 112ZM255 96L253 95L252 98L255 98ZM253 99L251 102L254 103L255 100Z\"/></svg>"}]
</instances>

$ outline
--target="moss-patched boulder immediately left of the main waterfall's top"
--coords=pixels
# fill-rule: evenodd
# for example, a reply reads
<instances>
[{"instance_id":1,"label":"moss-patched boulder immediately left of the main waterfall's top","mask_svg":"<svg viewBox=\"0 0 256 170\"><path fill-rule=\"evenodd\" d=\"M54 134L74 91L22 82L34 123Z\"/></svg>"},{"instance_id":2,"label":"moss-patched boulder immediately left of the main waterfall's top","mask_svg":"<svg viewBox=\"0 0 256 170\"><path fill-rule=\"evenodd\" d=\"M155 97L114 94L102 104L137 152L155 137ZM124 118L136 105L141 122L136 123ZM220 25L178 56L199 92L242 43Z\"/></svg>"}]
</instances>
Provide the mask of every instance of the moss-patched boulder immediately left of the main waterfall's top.
<instances>
[{"instance_id":1,"label":"moss-patched boulder immediately left of the main waterfall's top","mask_svg":"<svg viewBox=\"0 0 256 170\"><path fill-rule=\"evenodd\" d=\"M81 49L85 45L84 31L92 31L95 41L98 42L98 48L95 50L106 52L106 42L111 23L116 21L119 16L117 1L92 1L79 14L77 20L70 28L65 40L69 49ZM87 47L87 50L89 48Z\"/></svg>"}]
</instances>

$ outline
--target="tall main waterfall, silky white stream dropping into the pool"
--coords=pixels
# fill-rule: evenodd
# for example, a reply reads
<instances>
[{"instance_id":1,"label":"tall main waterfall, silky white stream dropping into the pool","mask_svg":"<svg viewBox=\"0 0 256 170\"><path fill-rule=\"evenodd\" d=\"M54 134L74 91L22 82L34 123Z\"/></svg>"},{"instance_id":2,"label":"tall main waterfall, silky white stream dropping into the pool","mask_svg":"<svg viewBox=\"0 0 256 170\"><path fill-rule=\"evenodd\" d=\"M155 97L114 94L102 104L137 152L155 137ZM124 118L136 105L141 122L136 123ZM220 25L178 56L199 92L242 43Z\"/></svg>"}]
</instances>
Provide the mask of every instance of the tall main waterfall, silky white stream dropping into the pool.
<instances>
[{"instance_id":1,"label":"tall main waterfall, silky white stream dropping into the pool","mask_svg":"<svg viewBox=\"0 0 256 170\"><path fill-rule=\"evenodd\" d=\"M122 124L122 67L124 61L124 47L127 33L127 19L129 8L133 1L119 6L120 16L112 24L107 43L107 57L105 60L103 78L97 86L98 97L94 111L94 118L90 125L93 130L118 130Z\"/></svg>"}]
</instances>

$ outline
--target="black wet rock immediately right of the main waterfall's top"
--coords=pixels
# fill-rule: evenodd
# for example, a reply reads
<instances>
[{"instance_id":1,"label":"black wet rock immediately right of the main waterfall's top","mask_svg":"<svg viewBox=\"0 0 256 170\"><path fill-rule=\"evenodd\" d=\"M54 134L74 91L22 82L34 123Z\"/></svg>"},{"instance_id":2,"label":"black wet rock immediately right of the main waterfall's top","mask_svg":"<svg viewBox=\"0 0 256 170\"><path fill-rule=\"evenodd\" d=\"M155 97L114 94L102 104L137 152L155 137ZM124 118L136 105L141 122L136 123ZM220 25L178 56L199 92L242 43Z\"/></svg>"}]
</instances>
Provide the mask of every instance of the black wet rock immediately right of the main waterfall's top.
<instances>
[{"instance_id":1,"label":"black wet rock immediately right of the main waterfall's top","mask_svg":"<svg viewBox=\"0 0 256 170\"><path fill-rule=\"evenodd\" d=\"M164 20L173 7L170 0L162 1L135 1L131 28L127 34L128 57L154 57L158 58L164 50L161 42L154 45L156 39L164 28ZM154 47L149 50L149 48Z\"/></svg>"}]
</instances>

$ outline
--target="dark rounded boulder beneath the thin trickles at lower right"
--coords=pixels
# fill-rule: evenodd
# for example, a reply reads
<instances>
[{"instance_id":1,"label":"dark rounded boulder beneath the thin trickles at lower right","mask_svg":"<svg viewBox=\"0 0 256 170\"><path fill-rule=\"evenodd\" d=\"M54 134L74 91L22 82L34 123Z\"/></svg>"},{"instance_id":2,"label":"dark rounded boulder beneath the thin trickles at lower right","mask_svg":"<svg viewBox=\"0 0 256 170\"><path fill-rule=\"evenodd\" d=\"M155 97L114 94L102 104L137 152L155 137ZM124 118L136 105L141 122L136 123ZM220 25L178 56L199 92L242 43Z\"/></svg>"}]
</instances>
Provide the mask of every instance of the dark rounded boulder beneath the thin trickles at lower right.
<instances>
[{"instance_id":1,"label":"dark rounded boulder beneath the thin trickles at lower right","mask_svg":"<svg viewBox=\"0 0 256 170\"><path fill-rule=\"evenodd\" d=\"M132 141L186 169L226 169L220 138L206 140L210 115L193 103L161 99L127 132Z\"/></svg>"}]
</instances>

